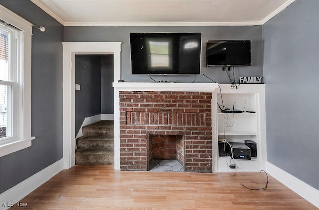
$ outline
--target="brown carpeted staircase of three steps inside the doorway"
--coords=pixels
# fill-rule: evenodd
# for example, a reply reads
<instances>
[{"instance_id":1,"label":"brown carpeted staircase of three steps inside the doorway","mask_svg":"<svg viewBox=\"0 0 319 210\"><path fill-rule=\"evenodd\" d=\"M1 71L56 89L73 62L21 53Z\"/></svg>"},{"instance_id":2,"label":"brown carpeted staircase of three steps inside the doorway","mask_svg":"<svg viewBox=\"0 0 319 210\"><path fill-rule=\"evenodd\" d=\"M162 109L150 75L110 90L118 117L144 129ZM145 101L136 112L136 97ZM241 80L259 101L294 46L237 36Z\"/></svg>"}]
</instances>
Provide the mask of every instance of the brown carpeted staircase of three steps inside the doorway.
<instances>
[{"instance_id":1,"label":"brown carpeted staircase of three steps inside the doorway","mask_svg":"<svg viewBox=\"0 0 319 210\"><path fill-rule=\"evenodd\" d=\"M82 127L77 138L75 164L114 164L114 121L101 120Z\"/></svg>"}]
</instances>

